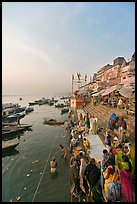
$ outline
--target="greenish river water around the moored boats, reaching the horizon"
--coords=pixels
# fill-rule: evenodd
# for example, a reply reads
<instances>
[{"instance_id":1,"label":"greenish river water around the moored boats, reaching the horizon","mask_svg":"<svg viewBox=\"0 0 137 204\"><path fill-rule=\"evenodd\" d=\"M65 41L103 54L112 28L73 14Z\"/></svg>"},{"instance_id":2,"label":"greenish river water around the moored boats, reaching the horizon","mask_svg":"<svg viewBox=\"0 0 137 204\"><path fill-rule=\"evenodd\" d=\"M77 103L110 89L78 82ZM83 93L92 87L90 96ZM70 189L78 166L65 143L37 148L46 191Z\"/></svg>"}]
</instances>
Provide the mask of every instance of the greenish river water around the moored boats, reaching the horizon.
<instances>
[{"instance_id":1,"label":"greenish river water around the moored boats, reaching the horizon","mask_svg":"<svg viewBox=\"0 0 137 204\"><path fill-rule=\"evenodd\" d=\"M22 101L19 98L22 97ZM36 96L5 96L2 103L19 103L40 99ZM34 111L21 119L21 123L32 124L32 131L26 131L19 137L16 151L2 155L2 201L8 202L20 197L18 202L69 202L69 157L66 161L60 155L59 145L69 145L69 134L63 127L43 124L43 118L50 117L66 120L60 109L49 105L35 105ZM50 160L58 162L57 173L50 174ZM38 163L33 163L38 160ZM27 176L29 174L29 176Z\"/></svg>"}]
</instances>

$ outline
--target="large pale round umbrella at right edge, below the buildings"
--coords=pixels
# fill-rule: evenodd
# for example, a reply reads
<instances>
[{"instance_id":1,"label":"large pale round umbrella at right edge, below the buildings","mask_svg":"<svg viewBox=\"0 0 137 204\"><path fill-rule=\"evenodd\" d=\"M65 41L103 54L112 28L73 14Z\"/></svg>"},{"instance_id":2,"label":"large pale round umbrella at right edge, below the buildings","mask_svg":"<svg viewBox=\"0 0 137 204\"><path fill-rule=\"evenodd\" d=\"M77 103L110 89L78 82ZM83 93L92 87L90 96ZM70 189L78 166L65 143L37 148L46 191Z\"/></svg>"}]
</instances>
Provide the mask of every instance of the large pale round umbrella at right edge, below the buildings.
<instances>
[{"instance_id":1,"label":"large pale round umbrella at right edge, below the buildings","mask_svg":"<svg viewBox=\"0 0 137 204\"><path fill-rule=\"evenodd\" d=\"M119 93L126 98L135 98L135 89L132 86L122 87Z\"/></svg>"}]
</instances>

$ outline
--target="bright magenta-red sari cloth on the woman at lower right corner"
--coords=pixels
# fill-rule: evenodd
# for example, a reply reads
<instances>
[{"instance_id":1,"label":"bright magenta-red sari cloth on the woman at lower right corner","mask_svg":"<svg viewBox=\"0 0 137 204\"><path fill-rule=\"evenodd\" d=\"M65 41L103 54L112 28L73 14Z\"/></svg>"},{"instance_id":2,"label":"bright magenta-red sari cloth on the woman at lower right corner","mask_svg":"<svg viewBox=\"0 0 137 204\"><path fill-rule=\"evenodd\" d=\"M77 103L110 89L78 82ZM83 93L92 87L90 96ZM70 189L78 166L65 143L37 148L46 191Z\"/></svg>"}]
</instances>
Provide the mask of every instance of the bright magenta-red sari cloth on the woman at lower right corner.
<instances>
[{"instance_id":1,"label":"bright magenta-red sari cloth on the woman at lower right corner","mask_svg":"<svg viewBox=\"0 0 137 204\"><path fill-rule=\"evenodd\" d=\"M129 171L120 170L121 199L123 202L134 202L132 177Z\"/></svg>"}]
</instances>

